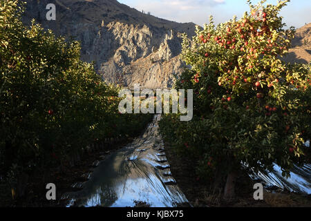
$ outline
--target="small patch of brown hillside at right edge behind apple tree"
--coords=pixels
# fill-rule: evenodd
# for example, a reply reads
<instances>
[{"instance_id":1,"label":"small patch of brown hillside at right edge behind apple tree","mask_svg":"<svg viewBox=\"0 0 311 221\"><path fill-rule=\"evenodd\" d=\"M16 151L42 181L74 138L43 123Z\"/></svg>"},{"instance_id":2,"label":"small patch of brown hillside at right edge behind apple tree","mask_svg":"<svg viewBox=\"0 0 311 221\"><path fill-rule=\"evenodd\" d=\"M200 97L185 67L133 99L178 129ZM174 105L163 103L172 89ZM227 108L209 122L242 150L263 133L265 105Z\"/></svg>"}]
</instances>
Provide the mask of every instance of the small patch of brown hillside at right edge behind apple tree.
<instances>
[{"instance_id":1,"label":"small patch of brown hillside at right edge behind apple tree","mask_svg":"<svg viewBox=\"0 0 311 221\"><path fill-rule=\"evenodd\" d=\"M290 48L284 60L291 63L308 64L311 62L311 23L296 30L292 48Z\"/></svg>"}]
</instances>

